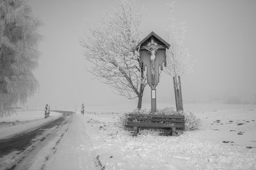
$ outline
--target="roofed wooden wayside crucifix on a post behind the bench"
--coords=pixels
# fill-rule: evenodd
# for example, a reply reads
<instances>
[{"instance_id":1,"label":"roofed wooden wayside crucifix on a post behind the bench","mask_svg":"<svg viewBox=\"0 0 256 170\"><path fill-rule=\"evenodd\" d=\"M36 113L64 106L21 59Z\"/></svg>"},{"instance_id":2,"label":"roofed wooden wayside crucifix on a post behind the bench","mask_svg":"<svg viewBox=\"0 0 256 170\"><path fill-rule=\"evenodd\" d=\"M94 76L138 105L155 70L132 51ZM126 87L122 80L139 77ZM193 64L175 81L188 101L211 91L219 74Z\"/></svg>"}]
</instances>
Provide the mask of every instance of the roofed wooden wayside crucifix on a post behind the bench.
<instances>
[{"instance_id":1,"label":"roofed wooden wayside crucifix on a post behind the bench","mask_svg":"<svg viewBox=\"0 0 256 170\"><path fill-rule=\"evenodd\" d=\"M147 67L147 83L151 87L151 111L156 112L156 86L159 83L159 67L163 70L166 66L166 48L170 44L159 37L155 32L150 32L138 45L140 64L145 70Z\"/></svg>"}]
</instances>

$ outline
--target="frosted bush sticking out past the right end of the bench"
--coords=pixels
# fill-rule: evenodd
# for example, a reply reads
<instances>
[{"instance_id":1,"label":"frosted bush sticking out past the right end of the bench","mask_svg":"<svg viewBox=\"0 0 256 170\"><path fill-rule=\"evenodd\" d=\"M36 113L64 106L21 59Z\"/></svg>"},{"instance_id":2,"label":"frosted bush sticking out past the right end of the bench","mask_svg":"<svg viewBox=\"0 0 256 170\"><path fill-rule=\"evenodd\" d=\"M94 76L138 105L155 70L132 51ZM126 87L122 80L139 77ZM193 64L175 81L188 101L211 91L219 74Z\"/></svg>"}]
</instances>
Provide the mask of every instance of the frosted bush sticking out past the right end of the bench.
<instances>
[{"instance_id":1,"label":"frosted bush sticking out past the right end of the bench","mask_svg":"<svg viewBox=\"0 0 256 170\"><path fill-rule=\"evenodd\" d=\"M185 117L185 131L193 131L198 129L201 125L200 118L197 118L193 113L184 113Z\"/></svg>"}]
</instances>

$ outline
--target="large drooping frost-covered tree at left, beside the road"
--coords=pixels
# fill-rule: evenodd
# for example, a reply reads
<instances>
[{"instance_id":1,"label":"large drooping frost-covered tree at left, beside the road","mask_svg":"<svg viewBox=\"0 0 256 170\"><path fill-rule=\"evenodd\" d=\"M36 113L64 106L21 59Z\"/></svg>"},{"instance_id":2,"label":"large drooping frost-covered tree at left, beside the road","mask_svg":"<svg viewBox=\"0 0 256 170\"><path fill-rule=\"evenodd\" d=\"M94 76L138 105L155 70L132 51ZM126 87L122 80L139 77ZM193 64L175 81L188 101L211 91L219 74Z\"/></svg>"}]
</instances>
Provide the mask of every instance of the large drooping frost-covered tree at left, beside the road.
<instances>
[{"instance_id":1,"label":"large drooping frost-covered tree at left, beside the road","mask_svg":"<svg viewBox=\"0 0 256 170\"><path fill-rule=\"evenodd\" d=\"M38 87L40 22L22 0L0 0L0 117L14 113Z\"/></svg>"}]
</instances>

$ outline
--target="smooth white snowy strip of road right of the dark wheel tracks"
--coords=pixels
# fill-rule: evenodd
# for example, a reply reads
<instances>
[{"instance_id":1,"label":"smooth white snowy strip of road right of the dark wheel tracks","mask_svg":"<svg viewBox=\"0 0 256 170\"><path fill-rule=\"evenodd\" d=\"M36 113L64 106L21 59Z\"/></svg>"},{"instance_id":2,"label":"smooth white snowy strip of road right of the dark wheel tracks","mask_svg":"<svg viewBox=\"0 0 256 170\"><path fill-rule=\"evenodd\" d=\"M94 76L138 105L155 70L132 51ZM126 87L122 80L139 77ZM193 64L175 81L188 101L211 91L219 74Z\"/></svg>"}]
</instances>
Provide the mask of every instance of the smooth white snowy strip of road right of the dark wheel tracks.
<instances>
[{"instance_id":1,"label":"smooth white snowy strip of road right of the dark wheel tracks","mask_svg":"<svg viewBox=\"0 0 256 170\"><path fill-rule=\"evenodd\" d=\"M95 169L97 159L90 152L92 141L86 134L86 118L76 113L45 169Z\"/></svg>"}]
</instances>

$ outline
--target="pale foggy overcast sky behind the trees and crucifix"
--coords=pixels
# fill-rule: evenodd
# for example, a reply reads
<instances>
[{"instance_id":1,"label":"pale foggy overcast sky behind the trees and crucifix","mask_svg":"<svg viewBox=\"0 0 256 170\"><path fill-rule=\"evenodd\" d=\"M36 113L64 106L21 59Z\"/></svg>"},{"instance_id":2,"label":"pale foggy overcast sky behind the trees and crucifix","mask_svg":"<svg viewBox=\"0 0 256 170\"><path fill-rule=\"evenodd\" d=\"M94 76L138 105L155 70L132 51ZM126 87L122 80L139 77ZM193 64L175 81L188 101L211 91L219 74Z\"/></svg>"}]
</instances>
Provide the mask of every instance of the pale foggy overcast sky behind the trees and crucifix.
<instances>
[{"instance_id":1,"label":"pale foggy overcast sky behind the trees and crucifix","mask_svg":"<svg viewBox=\"0 0 256 170\"><path fill-rule=\"evenodd\" d=\"M141 31L151 31L164 38L172 1L138 1L143 6ZM79 38L89 25L99 25L104 12L111 13L115 0L30 0L35 17L44 25L40 44L42 53L35 76L40 89L25 106L44 108L75 106L85 103L134 103L117 96L108 85L97 80L85 69L86 60ZM177 1L177 24L186 22L185 45L194 71L182 76L185 103L209 102L225 96L256 93L256 1ZM143 102L150 101L150 89L145 89ZM157 102L173 104L172 78L162 74L157 86ZM174 105L173 105L174 106Z\"/></svg>"}]
</instances>

